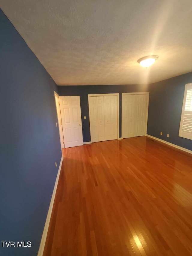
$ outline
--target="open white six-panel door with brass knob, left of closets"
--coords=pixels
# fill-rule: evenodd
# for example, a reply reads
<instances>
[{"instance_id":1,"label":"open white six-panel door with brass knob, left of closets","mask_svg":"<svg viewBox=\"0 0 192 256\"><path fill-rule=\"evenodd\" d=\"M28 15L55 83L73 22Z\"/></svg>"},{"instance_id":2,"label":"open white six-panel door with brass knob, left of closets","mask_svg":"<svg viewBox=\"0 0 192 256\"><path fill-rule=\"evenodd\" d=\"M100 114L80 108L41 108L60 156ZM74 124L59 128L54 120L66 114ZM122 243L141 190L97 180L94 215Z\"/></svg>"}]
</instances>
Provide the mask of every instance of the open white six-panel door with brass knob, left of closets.
<instances>
[{"instance_id":1,"label":"open white six-panel door with brass knob, left of closets","mask_svg":"<svg viewBox=\"0 0 192 256\"><path fill-rule=\"evenodd\" d=\"M65 148L82 146L82 122L79 96L59 96Z\"/></svg>"}]
</instances>

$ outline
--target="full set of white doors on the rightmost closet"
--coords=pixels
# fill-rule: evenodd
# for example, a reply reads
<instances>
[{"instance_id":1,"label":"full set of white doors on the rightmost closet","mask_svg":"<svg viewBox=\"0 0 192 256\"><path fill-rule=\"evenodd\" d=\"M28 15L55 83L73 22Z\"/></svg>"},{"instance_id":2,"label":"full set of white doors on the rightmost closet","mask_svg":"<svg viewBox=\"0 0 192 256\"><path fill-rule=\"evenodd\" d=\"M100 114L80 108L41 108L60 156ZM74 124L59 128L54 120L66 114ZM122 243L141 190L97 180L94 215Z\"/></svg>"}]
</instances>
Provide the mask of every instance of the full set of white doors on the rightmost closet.
<instances>
[{"instance_id":1,"label":"full set of white doors on the rightmost closet","mask_svg":"<svg viewBox=\"0 0 192 256\"><path fill-rule=\"evenodd\" d=\"M122 96L122 137L146 134L147 94Z\"/></svg>"}]
</instances>

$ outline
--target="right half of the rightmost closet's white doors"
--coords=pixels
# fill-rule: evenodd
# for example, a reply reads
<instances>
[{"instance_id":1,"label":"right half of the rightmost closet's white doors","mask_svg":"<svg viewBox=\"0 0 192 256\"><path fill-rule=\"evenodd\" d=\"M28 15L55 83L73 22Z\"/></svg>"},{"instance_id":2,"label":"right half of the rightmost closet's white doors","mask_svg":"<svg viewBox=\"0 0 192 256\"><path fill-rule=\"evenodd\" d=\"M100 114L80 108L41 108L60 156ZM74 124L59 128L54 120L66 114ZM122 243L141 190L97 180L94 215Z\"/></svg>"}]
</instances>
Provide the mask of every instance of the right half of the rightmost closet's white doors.
<instances>
[{"instance_id":1,"label":"right half of the rightmost closet's white doors","mask_svg":"<svg viewBox=\"0 0 192 256\"><path fill-rule=\"evenodd\" d=\"M147 95L135 95L134 137L145 135Z\"/></svg>"}]
</instances>

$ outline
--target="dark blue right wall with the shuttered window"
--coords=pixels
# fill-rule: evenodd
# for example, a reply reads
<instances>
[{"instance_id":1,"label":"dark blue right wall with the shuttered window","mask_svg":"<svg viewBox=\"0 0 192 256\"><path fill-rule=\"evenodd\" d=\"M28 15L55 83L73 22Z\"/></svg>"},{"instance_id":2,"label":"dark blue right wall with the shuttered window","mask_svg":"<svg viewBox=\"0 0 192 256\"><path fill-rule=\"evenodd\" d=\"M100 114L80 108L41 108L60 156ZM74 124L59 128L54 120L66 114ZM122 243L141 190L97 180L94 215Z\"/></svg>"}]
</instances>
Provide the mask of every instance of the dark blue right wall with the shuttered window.
<instances>
[{"instance_id":1,"label":"dark blue right wall with the shuttered window","mask_svg":"<svg viewBox=\"0 0 192 256\"><path fill-rule=\"evenodd\" d=\"M192 83L192 72L149 85L147 134L192 150L192 140L179 137L186 83Z\"/></svg>"}]
</instances>

